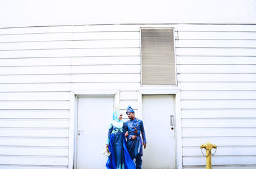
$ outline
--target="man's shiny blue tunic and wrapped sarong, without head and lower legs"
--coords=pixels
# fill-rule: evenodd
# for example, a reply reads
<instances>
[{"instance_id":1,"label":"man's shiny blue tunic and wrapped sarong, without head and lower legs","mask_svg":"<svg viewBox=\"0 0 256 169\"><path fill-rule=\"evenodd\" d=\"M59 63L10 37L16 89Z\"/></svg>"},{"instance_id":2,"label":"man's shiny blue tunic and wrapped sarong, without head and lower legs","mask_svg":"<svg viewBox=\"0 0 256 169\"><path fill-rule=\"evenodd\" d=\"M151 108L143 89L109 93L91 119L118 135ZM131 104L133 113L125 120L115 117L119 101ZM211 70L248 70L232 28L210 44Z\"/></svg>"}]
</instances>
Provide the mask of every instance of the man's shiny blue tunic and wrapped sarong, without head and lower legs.
<instances>
[{"instance_id":1,"label":"man's shiny blue tunic and wrapped sarong, without head and lower legs","mask_svg":"<svg viewBox=\"0 0 256 169\"><path fill-rule=\"evenodd\" d=\"M147 143L143 122L139 119L134 119L133 121L129 120L125 122L124 132L126 131L129 132L129 135L127 137L127 149L129 151L131 158L134 159L142 156L143 143ZM142 139L140 134L142 135ZM136 135L137 138L132 140L132 135Z\"/></svg>"}]
</instances>

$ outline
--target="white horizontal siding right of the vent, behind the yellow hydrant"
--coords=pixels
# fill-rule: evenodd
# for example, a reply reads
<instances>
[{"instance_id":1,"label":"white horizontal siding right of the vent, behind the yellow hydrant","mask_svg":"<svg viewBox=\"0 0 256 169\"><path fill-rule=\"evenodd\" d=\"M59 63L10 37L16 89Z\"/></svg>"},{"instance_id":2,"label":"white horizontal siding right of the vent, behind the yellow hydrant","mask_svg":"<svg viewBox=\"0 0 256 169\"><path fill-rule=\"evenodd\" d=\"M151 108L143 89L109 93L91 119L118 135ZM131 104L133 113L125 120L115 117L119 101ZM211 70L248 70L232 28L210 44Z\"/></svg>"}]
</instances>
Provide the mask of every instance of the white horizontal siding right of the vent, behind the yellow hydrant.
<instances>
[{"instance_id":1,"label":"white horizontal siding right of the vent, behind the yellow hydrant","mask_svg":"<svg viewBox=\"0 0 256 169\"><path fill-rule=\"evenodd\" d=\"M212 168L255 168L255 28L178 26L184 168L205 168L206 142L218 146Z\"/></svg>"}]
</instances>

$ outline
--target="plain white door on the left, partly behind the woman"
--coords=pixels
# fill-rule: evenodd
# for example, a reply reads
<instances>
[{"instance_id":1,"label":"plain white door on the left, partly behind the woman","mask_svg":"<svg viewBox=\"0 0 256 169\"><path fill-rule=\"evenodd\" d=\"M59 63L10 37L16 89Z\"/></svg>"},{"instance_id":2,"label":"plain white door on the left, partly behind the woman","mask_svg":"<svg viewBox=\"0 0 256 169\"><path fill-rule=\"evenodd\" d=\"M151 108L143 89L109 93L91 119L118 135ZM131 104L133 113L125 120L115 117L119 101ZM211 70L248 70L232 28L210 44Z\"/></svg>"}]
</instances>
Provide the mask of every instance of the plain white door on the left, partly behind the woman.
<instances>
[{"instance_id":1,"label":"plain white door on the left, partly behind the woman","mask_svg":"<svg viewBox=\"0 0 256 169\"><path fill-rule=\"evenodd\" d=\"M106 168L108 126L112 120L113 98L78 98L77 169Z\"/></svg>"}]
</instances>

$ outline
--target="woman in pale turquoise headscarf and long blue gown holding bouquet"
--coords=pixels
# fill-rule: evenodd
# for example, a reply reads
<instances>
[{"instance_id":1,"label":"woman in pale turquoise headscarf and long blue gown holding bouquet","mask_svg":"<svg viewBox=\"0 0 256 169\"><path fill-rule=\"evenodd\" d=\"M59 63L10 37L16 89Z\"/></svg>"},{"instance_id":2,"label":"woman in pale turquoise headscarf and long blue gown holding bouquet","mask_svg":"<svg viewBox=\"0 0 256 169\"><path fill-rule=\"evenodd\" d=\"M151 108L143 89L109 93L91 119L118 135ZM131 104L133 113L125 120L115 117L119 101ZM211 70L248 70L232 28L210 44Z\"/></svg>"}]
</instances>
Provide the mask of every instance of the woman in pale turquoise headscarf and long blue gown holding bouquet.
<instances>
[{"instance_id":1,"label":"woman in pale turquoise headscarf and long blue gown holding bouquet","mask_svg":"<svg viewBox=\"0 0 256 169\"><path fill-rule=\"evenodd\" d=\"M109 125L108 140L106 147L111 152L106 163L108 169L135 169L126 146L124 136L124 121L122 113L118 110L113 111L113 121Z\"/></svg>"}]
</instances>

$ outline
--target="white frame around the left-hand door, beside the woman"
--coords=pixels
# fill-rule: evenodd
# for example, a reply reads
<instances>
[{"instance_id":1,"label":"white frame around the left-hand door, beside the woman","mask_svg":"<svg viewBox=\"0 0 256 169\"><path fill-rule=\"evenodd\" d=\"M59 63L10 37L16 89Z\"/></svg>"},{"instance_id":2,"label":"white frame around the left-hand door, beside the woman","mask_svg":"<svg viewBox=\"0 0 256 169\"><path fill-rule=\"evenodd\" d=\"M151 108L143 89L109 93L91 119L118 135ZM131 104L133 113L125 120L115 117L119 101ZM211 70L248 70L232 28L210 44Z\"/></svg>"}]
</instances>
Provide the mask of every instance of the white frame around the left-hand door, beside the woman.
<instances>
[{"instance_id":1,"label":"white frame around the left-hand door, beside the woman","mask_svg":"<svg viewBox=\"0 0 256 169\"><path fill-rule=\"evenodd\" d=\"M100 98L113 97L114 107L120 107L120 91L113 90L71 90L70 91L70 116L69 116L69 143L68 143L68 169L73 169L76 165L76 133L77 133L77 102L78 98Z\"/></svg>"}]
</instances>

